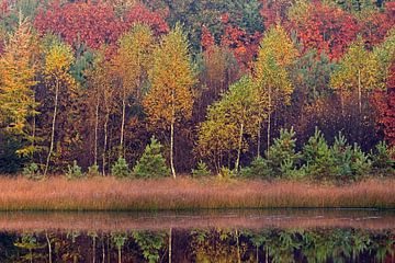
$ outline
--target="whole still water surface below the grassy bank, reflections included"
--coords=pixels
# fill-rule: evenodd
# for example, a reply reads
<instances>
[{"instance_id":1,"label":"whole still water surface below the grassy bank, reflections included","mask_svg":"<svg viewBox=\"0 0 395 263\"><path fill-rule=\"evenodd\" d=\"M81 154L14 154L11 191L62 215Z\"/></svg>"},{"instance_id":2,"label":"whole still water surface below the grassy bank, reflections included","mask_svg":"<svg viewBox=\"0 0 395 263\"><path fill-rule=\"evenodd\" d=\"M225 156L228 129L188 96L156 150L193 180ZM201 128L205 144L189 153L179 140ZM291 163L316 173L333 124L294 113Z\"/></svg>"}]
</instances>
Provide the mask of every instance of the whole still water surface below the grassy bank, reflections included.
<instances>
[{"instance_id":1,"label":"whole still water surface below the grassy bank, reflections included","mask_svg":"<svg viewBox=\"0 0 395 263\"><path fill-rule=\"evenodd\" d=\"M0 213L0 262L395 262L395 211Z\"/></svg>"}]
</instances>

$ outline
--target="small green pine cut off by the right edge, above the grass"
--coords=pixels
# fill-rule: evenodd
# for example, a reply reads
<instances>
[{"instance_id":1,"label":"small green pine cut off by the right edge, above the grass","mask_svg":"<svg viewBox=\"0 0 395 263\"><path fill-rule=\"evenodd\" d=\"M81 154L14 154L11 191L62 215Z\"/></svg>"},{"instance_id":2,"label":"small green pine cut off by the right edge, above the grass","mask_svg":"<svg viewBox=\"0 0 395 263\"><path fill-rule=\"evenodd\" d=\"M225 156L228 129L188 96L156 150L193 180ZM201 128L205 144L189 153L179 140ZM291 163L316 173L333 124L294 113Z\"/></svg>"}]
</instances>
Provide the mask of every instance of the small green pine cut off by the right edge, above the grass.
<instances>
[{"instance_id":1,"label":"small green pine cut off by the right edge, above the grass","mask_svg":"<svg viewBox=\"0 0 395 263\"><path fill-rule=\"evenodd\" d=\"M388 149L385 141L381 141L375 146L375 150L370 153L374 172L382 174L394 172L395 160L392 159L395 153L394 149Z\"/></svg>"}]
</instances>

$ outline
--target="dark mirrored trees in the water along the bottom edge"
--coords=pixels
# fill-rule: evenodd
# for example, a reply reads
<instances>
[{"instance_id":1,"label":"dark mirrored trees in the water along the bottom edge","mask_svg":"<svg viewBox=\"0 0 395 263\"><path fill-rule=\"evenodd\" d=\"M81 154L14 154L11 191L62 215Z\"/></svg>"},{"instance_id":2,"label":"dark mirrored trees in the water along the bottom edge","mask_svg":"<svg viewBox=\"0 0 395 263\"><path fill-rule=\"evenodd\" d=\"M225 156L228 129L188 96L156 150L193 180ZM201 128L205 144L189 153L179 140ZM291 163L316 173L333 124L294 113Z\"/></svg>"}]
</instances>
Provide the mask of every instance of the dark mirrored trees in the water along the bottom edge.
<instances>
[{"instance_id":1,"label":"dark mirrored trees in the water along the bottom edge","mask_svg":"<svg viewBox=\"0 0 395 263\"><path fill-rule=\"evenodd\" d=\"M0 235L0 262L395 262L394 250L393 230L353 228Z\"/></svg>"}]
</instances>

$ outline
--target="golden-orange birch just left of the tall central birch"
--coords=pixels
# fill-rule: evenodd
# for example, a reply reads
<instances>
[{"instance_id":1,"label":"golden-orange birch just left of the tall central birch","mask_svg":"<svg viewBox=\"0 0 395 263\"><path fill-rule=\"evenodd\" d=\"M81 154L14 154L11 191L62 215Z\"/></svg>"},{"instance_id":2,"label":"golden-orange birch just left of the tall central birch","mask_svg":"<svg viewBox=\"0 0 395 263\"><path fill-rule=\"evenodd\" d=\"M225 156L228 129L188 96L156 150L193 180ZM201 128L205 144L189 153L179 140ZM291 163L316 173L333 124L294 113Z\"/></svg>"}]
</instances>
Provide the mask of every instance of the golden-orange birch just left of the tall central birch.
<instances>
[{"instance_id":1,"label":"golden-orange birch just left of the tall central birch","mask_svg":"<svg viewBox=\"0 0 395 263\"><path fill-rule=\"evenodd\" d=\"M148 70L151 65L154 49L153 33L149 27L135 25L131 33L120 39L120 48L112 60L113 71L122 102L120 153L124 151L124 130L126 106L131 96L138 101L143 87L147 82Z\"/></svg>"}]
</instances>

